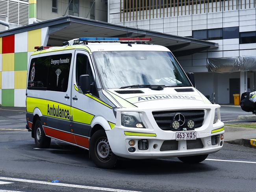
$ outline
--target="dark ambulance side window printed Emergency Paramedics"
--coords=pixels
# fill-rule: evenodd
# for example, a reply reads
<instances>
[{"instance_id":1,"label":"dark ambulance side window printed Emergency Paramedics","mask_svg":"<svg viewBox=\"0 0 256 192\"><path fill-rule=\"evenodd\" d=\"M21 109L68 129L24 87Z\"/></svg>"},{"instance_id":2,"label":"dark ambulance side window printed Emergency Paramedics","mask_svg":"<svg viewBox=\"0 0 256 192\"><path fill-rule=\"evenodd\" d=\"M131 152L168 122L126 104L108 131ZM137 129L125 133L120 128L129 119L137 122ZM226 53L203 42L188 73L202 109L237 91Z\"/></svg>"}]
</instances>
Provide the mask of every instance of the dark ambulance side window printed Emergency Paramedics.
<instances>
[{"instance_id":1,"label":"dark ambulance side window printed Emergency Paramedics","mask_svg":"<svg viewBox=\"0 0 256 192\"><path fill-rule=\"evenodd\" d=\"M72 54L51 55L47 90L66 92Z\"/></svg>"}]
</instances>

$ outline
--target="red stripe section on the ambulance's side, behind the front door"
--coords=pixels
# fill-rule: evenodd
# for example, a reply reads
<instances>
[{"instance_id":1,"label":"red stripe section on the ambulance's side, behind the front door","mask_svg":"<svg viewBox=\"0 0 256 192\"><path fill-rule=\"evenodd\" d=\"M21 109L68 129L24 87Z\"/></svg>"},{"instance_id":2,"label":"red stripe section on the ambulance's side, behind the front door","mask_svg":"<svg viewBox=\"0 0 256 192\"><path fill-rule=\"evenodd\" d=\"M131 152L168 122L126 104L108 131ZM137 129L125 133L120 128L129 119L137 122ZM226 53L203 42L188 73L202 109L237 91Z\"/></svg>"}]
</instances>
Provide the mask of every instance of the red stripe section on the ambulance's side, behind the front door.
<instances>
[{"instance_id":1,"label":"red stripe section on the ambulance's side, behind the front door","mask_svg":"<svg viewBox=\"0 0 256 192\"><path fill-rule=\"evenodd\" d=\"M45 130L45 135L76 144L74 135L72 133L59 131L59 130L52 129L52 128L46 127L46 126L43 126L43 128Z\"/></svg>"}]
</instances>

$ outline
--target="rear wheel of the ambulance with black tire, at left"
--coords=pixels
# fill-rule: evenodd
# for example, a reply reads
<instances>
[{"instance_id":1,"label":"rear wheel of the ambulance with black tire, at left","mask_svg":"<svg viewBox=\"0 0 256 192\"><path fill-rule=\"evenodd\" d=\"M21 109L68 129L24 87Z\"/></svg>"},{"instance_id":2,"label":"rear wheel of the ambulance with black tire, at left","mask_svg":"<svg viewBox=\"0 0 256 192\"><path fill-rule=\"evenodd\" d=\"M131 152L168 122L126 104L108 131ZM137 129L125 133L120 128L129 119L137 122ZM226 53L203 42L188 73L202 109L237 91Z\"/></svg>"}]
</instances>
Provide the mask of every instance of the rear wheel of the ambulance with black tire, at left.
<instances>
[{"instance_id":1,"label":"rear wheel of the ambulance with black tire, at left","mask_svg":"<svg viewBox=\"0 0 256 192\"><path fill-rule=\"evenodd\" d=\"M39 119L35 122L34 138L37 148L49 148L51 144L51 138L45 135L42 123Z\"/></svg>"}]
</instances>

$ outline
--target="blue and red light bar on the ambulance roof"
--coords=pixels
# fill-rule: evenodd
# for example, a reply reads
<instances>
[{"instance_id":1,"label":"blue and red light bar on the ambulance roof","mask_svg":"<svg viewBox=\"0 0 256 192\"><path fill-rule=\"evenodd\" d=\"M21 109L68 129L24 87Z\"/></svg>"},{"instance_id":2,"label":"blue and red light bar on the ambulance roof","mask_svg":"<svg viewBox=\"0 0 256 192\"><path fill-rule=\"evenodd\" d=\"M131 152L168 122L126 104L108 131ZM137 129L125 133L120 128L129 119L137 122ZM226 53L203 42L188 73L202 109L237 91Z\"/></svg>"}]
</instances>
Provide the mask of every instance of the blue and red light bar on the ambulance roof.
<instances>
[{"instance_id":1,"label":"blue and red light bar on the ambulance roof","mask_svg":"<svg viewBox=\"0 0 256 192\"><path fill-rule=\"evenodd\" d=\"M151 38L139 38L139 37L127 37L127 38L119 38L119 37L81 37L79 41L87 41L87 42L137 42L137 41L151 41Z\"/></svg>"}]
</instances>

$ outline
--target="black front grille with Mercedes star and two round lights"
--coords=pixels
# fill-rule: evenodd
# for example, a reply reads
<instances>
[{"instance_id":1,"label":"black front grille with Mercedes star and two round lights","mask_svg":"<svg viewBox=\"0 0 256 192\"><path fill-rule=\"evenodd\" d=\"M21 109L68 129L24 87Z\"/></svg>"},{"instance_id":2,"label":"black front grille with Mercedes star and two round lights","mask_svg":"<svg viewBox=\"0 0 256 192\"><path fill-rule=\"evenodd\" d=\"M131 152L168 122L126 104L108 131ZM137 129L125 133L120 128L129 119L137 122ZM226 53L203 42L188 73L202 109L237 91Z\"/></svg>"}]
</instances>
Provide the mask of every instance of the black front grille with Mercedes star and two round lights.
<instances>
[{"instance_id":1,"label":"black front grille with Mercedes star and two round lights","mask_svg":"<svg viewBox=\"0 0 256 192\"><path fill-rule=\"evenodd\" d=\"M179 129L173 129L172 124L174 121L174 116L178 113L181 113L185 117L184 125L180 126ZM156 124L160 129L168 131L181 131L183 128L187 128L187 122L189 120L193 120L195 122L195 126L192 129L201 127L204 122L204 110L180 110L180 111L153 111L152 112L154 119L156 120Z\"/></svg>"}]
</instances>

